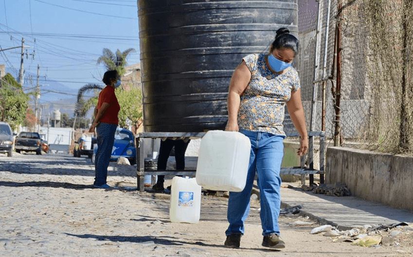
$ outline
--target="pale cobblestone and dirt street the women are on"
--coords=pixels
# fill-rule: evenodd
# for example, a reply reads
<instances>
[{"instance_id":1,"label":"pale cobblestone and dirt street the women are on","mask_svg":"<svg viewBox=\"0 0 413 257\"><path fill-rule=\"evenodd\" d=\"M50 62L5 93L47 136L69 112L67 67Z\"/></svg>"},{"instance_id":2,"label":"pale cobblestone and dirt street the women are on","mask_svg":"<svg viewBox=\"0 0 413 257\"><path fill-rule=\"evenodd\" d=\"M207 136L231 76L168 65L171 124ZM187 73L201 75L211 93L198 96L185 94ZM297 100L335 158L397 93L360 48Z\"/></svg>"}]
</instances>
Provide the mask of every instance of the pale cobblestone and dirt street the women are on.
<instances>
[{"instance_id":1,"label":"pale cobblestone and dirt street the women are on","mask_svg":"<svg viewBox=\"0 0 413 257\"><path fill-rule=\"evenodd\" d=\"M293 214L279 219L286 248L266 249L257 200L240 249L228 249L226 197L202 195L199 223L171 223L170 194L137 191L136 166L111 163L111 189L91 187L93 169L86 157L0 154L0 256L413 256L413 232L362 247L311 235L321 224Z\"/></svg>"}]
</instances>

